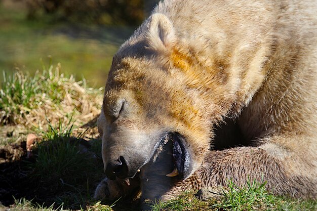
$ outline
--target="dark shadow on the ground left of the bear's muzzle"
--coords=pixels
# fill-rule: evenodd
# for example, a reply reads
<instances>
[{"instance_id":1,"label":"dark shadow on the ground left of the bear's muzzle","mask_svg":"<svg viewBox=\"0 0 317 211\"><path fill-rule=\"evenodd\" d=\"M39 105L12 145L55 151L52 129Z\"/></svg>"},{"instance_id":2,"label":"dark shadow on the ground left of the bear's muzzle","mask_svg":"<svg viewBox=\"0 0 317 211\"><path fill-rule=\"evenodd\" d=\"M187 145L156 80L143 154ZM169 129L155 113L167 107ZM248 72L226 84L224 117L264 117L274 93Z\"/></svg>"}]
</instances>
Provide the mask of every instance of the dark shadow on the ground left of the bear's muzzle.
<instances>
[{"instance_id":1,"label":"dark shadow on the ground left of the bear's muzzle","mask_svg":"<svg viewBox=\"0 0 317 211\"><path fill-rule=\"evenodd\" d=\"M55 145L53 140L46 142L46 145ZM78 205L81 205L80 203L83 202L83 197L89 199L89 195L92 195L93 187L98 184L98 181L102 178L102 160L100 156L93 151L93 144L85 140L77 140L73 137L69 138L69 142L72 142L81 156L87 158L85 159L89 161L86 163L87 165L94 163L94 166L89 168L90 172L77 170L76 166L70 167L64 165L65 169L62 169L60 174L51 173L38 175L41 171L39 171L36 164L38 159L37 152L34 151L32 156L27 157L25 142L21 142L20 146L10 144L7 147L7 151L2 149L2 158L6 158L9 162L0 164L0 202L5 206L9 206L14 203L14 198L19 199L23 197L32 200L34 203L44 203L47 206L55 202L58 206L65 199L69 200L70 197L73 196L75 201L67 201L66 203L70 206L69 208L77 208ZM100 142L100 140L94 140L94 142L96 142L94 144L98 144L97 142ZM10 148L19 149L19 154L21 155L21 153L23 153L23 155L14 158L14 155L10 153L12 152ZM48 147L47 153L52 156L52 160L54 160L53 156L56 154L50 154L52 153L50 150ZM48 156L48 159L50 156ZM65 158L66 160L64 160L64 162L67 163L67 155ZM63 160L61 160L61 162L62 161ZM49 162L48 160L48 163ZM41 167L41 165L39 167ZM63 167L63 165L61 165L61 167ZM78 165L78 167L82 166ZM96 171L100 168L101 173L100 171L94 173L92 171L94 168ZM67 174L67 171L69 171L69 174ZM46 171L42 173L46 173ZM71 182L71 174L76 174L74 183ZM76 184L76 182L82 184ZM86 182L87 184L85 184ZM89 185L91 189L87 190L87 194L84 194L80 189L86 185ZM78 198L74 196L78 196Z\"/></svg>"}]
</instances>

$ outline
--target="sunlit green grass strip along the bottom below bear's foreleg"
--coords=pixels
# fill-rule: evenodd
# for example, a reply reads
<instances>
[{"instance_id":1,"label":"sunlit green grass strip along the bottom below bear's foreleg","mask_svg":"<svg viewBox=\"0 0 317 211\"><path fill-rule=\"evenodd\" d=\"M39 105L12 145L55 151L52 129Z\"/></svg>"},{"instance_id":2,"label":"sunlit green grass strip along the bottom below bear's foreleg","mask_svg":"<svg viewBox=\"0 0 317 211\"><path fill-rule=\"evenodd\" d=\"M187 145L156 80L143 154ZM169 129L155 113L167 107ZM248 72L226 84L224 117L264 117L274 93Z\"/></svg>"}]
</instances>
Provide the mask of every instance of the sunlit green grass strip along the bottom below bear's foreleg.
<instances>
[{"instance_id":1,"label":"sunlit green grass strip along the bottom below bear's foreleg","mask_svg":"<svg viewBox=\"0 0 317 211\"><path fill-rule=\"evenodd\" d=\"M247 181L244 187L238 187L232 181L227 182L228 188L223 190L220 199L200 200L193 192L183 193L178 198L159 202L152 208L153 211L199 211L199 210L278 210L278 211L313 211L317 210L317 202L313 200L291 199L274 196L265 189L265 182Z\"/></svg>"}]
</instances>

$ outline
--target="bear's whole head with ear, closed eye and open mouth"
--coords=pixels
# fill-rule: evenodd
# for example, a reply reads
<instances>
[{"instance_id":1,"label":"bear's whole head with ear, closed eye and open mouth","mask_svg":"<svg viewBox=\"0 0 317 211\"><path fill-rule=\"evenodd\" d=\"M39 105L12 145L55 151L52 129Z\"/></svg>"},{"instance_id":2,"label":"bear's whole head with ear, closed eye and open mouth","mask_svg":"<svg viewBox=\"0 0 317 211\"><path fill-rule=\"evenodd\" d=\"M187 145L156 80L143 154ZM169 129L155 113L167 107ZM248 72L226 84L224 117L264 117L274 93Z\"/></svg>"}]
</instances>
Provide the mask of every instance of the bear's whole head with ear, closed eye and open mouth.
<instances>
[{"instance_id":1,"label":"bear's whole head with ear, closed eye and open mouth","mask_svg":"<svg viewBox=\"0 0 317 211\"><path fill-rule=\"evenodd\" d=\"M98 119L109 179L133 178L167 140L180 179L203 162L220 104L210 95L216 102L226 92L221 78L196 75L199 63L176 34L165 15L153 14L113 58Z\"/></svg>"}]
</instances>

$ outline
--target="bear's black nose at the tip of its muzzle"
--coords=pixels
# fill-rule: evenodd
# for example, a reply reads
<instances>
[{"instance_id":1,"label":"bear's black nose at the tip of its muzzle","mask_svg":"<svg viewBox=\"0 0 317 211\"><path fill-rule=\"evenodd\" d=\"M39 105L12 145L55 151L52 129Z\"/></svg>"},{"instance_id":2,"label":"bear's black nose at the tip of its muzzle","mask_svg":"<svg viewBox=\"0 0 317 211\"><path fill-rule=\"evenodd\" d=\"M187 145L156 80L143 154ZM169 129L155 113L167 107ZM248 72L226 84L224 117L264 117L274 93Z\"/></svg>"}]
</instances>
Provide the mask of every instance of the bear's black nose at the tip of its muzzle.
<instances>
[{"instance_id":1,"label":"bear's black nose at the tip of its muzzle","mask_svg":"<svg viewBox=\"0 0 317 211\"><path fill-rule=\"evenodd\" d=\"M126 179L128 176L128 165L125 158L120 156L117 160L108 162L105 173L110 180L114 180L115 177Z\"/></svg>"}]
</instances>

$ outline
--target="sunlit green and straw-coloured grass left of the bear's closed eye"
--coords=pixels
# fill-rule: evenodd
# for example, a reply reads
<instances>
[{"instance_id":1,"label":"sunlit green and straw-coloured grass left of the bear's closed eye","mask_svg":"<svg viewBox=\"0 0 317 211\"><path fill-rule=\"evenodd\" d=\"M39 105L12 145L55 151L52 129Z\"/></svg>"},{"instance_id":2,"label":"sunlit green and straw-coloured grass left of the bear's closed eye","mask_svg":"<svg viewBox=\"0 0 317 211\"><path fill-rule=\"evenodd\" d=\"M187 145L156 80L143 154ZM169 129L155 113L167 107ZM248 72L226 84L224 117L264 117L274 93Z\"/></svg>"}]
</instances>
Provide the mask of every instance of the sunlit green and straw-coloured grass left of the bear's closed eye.
<instances>
[{"instance_id":1,"label":"sunlit green and straw-coloured grass left of the bear's closed eye","mask_svg":"<svg viewBox=\"0 0 317 211\"><path fill-rule=\"evenodd\" d=\"M86 79L60 74L60 65L50 64L33 77L23 72L4 73L0 87L0 124L42 127L50 122L87 122L99 114L102 89L89 88Z\"/></svg>"}]
</instances>

